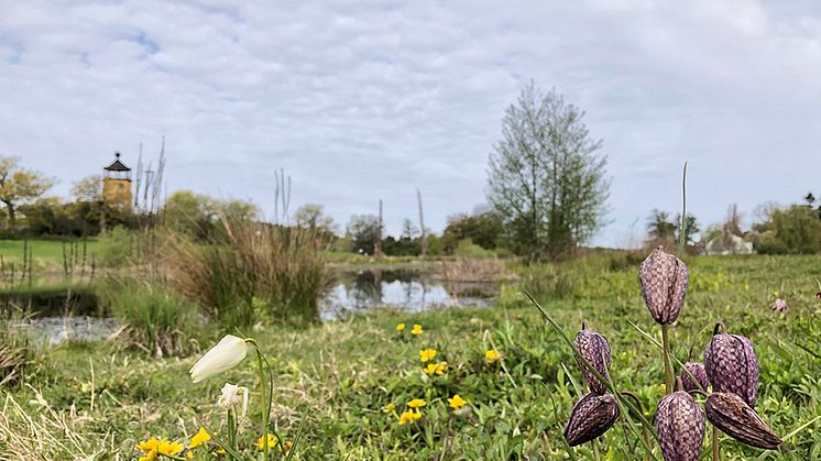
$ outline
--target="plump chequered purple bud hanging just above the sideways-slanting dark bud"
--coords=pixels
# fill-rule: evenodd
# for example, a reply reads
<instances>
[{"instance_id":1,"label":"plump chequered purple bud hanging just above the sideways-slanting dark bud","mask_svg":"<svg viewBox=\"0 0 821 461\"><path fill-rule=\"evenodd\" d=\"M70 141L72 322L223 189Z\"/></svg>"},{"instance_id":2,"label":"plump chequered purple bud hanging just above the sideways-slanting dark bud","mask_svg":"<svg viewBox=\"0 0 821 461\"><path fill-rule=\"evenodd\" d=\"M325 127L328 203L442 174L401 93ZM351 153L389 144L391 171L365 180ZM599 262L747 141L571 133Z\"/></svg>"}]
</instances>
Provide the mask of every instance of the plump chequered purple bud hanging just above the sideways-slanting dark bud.
<instances>
[{"instance_id":1,"label":"plump chequered purple bud hanging just above the sideways-slanting dark bud","mask_svg":"<svg viewBox=\"0 0 821 461\"><path fill-rule=\"evenodd\" d=\"M714 392L731 392L755 407L758 395L758 358L748 338L741 334L714 334L704 350L704 370Z\"/></svg>"}]
</instances>

